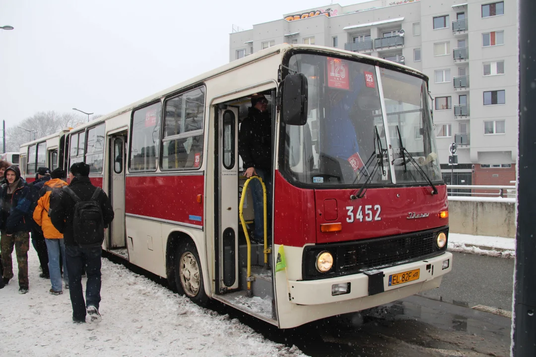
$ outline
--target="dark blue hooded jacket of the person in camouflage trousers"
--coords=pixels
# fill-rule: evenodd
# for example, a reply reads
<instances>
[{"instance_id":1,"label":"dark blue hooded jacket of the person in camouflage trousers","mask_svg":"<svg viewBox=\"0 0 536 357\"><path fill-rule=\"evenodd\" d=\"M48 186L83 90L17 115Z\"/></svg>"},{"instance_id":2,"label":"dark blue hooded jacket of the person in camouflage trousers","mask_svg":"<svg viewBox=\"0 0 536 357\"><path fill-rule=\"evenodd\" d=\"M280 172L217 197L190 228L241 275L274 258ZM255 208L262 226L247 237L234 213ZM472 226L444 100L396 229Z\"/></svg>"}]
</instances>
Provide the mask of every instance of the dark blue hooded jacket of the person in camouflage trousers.
<instances>
[{"instance_id":1,"label":"dark blue hooded jacket of the person in camouflage trousers","mask_svg":"<svg viewBox=\"0 0 536 357\"><path fill-rule=\"evenodd\" d=\"M30 223L33 221L30 211L32 204L30 189L26 181L20 178L18 166L11 166L8 170L15 172L15 180L19 180L19 183L11 195L8 195L7 180L0 188L0 207L2 208L0 229L5 230L7 234L29 232Z\"/></svg>"}]
</instances>

